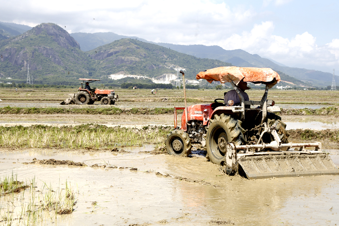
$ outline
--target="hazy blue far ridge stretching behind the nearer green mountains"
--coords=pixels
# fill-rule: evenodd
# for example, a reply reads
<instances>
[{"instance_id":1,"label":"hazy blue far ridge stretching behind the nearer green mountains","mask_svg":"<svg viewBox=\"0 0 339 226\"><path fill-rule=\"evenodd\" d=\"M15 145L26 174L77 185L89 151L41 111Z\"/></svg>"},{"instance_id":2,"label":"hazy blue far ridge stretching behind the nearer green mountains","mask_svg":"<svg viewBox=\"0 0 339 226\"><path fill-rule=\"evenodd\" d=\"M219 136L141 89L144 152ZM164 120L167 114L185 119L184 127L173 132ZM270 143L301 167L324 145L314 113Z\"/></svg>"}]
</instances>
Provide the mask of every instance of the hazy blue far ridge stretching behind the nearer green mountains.
<instances>
[{"instance_id":1,"label":"hazy blue far ridge stretching behind the nearer green mountains","mask_svg":"<svg viewBox=\"0 0 339 226\"><path fill-rule=\"evenodd\" d=\"M101 45L108 44L112 41L118 40L120 38L133 38L118 35L112 32L106 33L72 33L79 43L83 50L91 50ZM198 58L208 58L221 60L223 62L231 63L234 66L238 67L269 67L275 71L283 72L287 75L290 75L293 78L302 80L308 84L308 86L328 86L332 84L333 75L331 73L308 70L304 68L290 68L286 67L280 63L273 62L272 60L262 58L257 54L250 54L244 50L225 50L220 46L205 46L205 45L175 45L169 43L155 43L150 42L145 39L137 38L138 40L157 44L171 50L175 50L180 53L185 53L192 55ZM339 83L339 77L336 76L336 82Z\"/></svg>"}]
</instances>

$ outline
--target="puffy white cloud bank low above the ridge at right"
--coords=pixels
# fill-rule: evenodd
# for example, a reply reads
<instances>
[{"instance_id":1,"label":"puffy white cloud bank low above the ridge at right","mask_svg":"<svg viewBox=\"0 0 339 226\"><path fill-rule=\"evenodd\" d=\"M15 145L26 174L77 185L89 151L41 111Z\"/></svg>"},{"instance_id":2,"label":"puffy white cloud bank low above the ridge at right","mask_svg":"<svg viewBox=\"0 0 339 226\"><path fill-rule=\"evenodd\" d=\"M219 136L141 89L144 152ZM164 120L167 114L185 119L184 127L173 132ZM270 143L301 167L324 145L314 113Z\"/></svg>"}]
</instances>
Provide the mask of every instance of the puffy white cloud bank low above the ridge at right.
<instances>
[{"instance_id":1,"label":"puffy white cloud bank low above the ridge at right","mask_svg":"<svg viewBox=\"0 0 339 226\"><path fill-rule=\"evenodd\" d=\"M325 46L318 46L316 38L308 32L288 39L273 35L272 21L255 24L250 32L232 34L220 41L224 49L243 49L261 57L271 58L291 67L321 70L339 64L339 39Z\"/></svg>"}]
</instances>

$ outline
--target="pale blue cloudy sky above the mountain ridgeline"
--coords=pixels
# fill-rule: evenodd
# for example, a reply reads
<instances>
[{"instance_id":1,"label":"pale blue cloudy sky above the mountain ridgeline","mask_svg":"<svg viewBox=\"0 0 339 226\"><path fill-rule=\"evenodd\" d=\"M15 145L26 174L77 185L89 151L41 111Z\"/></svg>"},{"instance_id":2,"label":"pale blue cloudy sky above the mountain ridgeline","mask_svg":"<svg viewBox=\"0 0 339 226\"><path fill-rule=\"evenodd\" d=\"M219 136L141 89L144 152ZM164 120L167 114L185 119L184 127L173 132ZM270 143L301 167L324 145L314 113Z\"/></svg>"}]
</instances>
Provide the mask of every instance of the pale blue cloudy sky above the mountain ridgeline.
<instances>
[{"instance_id":1,"label":"pale blue cloudy sky above the mountain ridgeline","mask_svg":"<svg viewBox=\"0 0 339 226\"><path fill-rule=\"evenodd\" d=\"M243 49L339 74L338 0L0 0L0 21ZM66 26L66 27L65 27ZM337 74L337 73L336 73Z\"/></svg>"}]
</instances>

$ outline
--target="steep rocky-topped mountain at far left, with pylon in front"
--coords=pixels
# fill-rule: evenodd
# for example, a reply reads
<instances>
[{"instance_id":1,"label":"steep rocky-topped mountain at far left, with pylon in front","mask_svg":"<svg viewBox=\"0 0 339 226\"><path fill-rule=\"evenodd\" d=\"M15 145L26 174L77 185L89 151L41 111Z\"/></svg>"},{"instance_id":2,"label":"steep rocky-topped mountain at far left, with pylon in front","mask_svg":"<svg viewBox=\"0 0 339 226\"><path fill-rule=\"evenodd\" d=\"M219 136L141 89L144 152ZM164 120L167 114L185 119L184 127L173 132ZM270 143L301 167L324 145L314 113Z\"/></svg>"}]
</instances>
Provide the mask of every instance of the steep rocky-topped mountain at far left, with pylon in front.
<instances>
[{"instance_id":1,"label":"steep rocky-topped mountain at far left, with pylon in front","mask_svg":"<svg viewBox=\"0 0 339 226\"><path fill-rule=\"evenodd\" d=\"M88 74L91 62L79 43L53 23L42 23L0 41L0 77L25 81L27 66L34 84L68 84Z\"/></svg>"}]
</instances>

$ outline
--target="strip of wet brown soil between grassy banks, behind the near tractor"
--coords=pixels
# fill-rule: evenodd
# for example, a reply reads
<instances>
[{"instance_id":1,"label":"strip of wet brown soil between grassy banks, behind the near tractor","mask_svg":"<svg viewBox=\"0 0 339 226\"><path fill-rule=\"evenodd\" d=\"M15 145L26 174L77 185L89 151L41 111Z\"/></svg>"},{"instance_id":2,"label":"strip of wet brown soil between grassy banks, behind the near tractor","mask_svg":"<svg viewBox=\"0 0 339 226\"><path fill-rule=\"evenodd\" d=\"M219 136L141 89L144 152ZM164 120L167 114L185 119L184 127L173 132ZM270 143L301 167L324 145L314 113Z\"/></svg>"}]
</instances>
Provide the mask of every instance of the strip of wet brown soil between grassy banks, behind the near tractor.
<instances>
[{"instance_id":1,"label":"strip of wet brown soil between grassy banks, behind the near tractor","mask_svg":"<svg viewBox=\"0 0 339 226\"><path fill-rule=\"evenodd\" d=\"M339 118L328 115L281 115L287 129L338 129ZM181 114L177 115L180 125ZM107 125L174 124L173 114L129 114L129 115L88 115L88 114L0 114L0 125L30 124L83 124Z\"/></svg>"}]
</instances>

